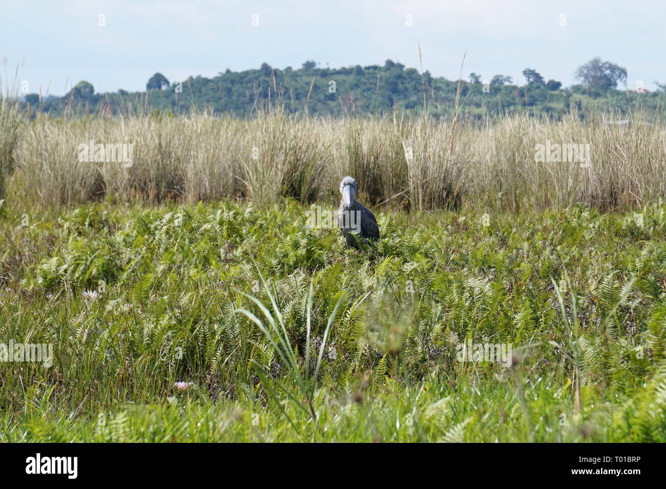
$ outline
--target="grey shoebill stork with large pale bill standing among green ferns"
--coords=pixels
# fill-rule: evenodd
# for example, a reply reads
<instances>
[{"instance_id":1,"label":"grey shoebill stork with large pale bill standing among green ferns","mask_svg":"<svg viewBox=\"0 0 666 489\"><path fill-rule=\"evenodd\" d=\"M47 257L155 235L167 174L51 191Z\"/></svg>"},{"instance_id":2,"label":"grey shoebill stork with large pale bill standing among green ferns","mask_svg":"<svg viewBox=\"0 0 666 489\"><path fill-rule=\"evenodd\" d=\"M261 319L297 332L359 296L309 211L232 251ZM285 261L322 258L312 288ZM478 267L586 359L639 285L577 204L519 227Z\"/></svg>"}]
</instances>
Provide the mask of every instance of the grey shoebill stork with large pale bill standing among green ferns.
<instances>
[{"instance_id":1,"label":"grey shoebill stork with large pale bill standing among green ferns","mask_svg":"<svg viewBox=\"0 0 666 489\"><path fill-rule=\"evenodd\" d=\"M346 176L340 182L340 209L338 224L348 246L360 248L359 242L368 244L368 240L379 239L377 220L368 208L356 202L356 180Z\"/></svg>"}]
</instances>

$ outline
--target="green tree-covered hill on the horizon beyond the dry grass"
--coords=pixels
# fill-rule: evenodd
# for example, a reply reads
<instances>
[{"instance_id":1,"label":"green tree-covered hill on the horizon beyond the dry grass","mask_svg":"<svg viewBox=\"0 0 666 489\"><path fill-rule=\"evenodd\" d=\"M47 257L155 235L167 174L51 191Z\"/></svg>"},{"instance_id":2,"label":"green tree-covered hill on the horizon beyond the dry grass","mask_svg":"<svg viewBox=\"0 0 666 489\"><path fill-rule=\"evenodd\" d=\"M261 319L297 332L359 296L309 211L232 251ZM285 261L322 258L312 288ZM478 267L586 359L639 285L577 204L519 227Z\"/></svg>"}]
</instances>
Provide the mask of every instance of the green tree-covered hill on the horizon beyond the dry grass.
<instances>
[{"instance_id":1,"label":"green tree-covered hill on the horizon beyond the dry grass","mask_svg":"<svg viewBox=\"0 0 666 489\"><path fill-rule=\"evenodd\" d=\"M460 86L460 106L470 118L486 114L528 111L559 118L573 110L628 112L644 108L663 112L665 86L649 92L625 86L627 71L598 58L579 67L580 82L564 88L559 81L545 81L534 69L523 71L528 83L513 84L511 77L482 77L472 73ZM212 110L216 115L248 116L257 110L282 107L287 112L331 116L418 113L427 108L434 116L452 114L458 81L432 77L417 69L387 60L384 65L329 69L306 61L300 69L274 69L264 63L259 69L226 70L213 78L189 77L168 81L156 73L145 92L96 93L92 84L79 82L65 96L41 99L38 94L23 97L31 116L47 112L53 116L119 114L140 111Z\"/></svg>"}]
</instances>

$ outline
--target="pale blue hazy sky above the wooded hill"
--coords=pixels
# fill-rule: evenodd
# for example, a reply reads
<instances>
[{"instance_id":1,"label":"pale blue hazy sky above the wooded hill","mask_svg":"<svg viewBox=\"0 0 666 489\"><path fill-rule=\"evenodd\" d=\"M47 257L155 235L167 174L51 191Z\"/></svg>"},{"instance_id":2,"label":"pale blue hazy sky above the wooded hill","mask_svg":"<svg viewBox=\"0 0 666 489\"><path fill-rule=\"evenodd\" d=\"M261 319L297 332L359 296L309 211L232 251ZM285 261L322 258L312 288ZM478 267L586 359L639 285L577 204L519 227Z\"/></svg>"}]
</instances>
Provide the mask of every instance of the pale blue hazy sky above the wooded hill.
<instances>
[{"instance_id":1,"label":"pale blue hazy sky above the wooded hill","mask_svg":"<svg viewBox=\"0 0 666 489\"><path fill-rule=\"evenodd\" d=\"M100 27L99 15L105 15ZM252 16L258 15L258 26ZM408 23L412 16L413 25ZM565 25L561 26L561 15ZM627 68L629 88L666 82L666 5L661 1L6 0L0 15L3 82L63 94L87 80L95 90L143 90L159 71L170 81L239 71L320 65L383 65L387 58L457 79L525 67L571 84L600 56Z\"/></svg>"}]
</instances>

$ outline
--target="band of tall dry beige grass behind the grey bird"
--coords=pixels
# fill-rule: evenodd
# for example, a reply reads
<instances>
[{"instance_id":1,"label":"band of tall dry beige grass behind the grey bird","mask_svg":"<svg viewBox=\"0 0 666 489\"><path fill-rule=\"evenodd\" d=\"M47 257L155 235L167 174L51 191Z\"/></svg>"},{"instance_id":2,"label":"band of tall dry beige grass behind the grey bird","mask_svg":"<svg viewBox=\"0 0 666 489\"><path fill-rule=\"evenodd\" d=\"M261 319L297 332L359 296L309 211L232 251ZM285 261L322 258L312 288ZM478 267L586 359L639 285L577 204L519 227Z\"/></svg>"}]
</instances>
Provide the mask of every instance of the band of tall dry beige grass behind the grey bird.
<instances>
[{"instance_id":1,"label":"band of tall dry beige grass behind the grey bird","mask_svg":"<svg viewBox=\"0 0 666 489\"><path fill-rule=\"evenodd\" d=\"M230 197L258 204L290 196L333 203L345 174L356 178L358 198L370 206L388 200L422 210L464 202L511 211L575 203L612 210L665 197L665 127L644 114L625 125L613 119L511 116L472 125L279 111L251 120L206 114L39 118L20 140L3 130L0 148L18 163L14 191L45 205L107 196L149 202ZM77 146L91 139L133 143L133 166L79 162ZM589 144L591 164L535 161L535 145L548 141Z\"/></svg>"}]
</instances>

